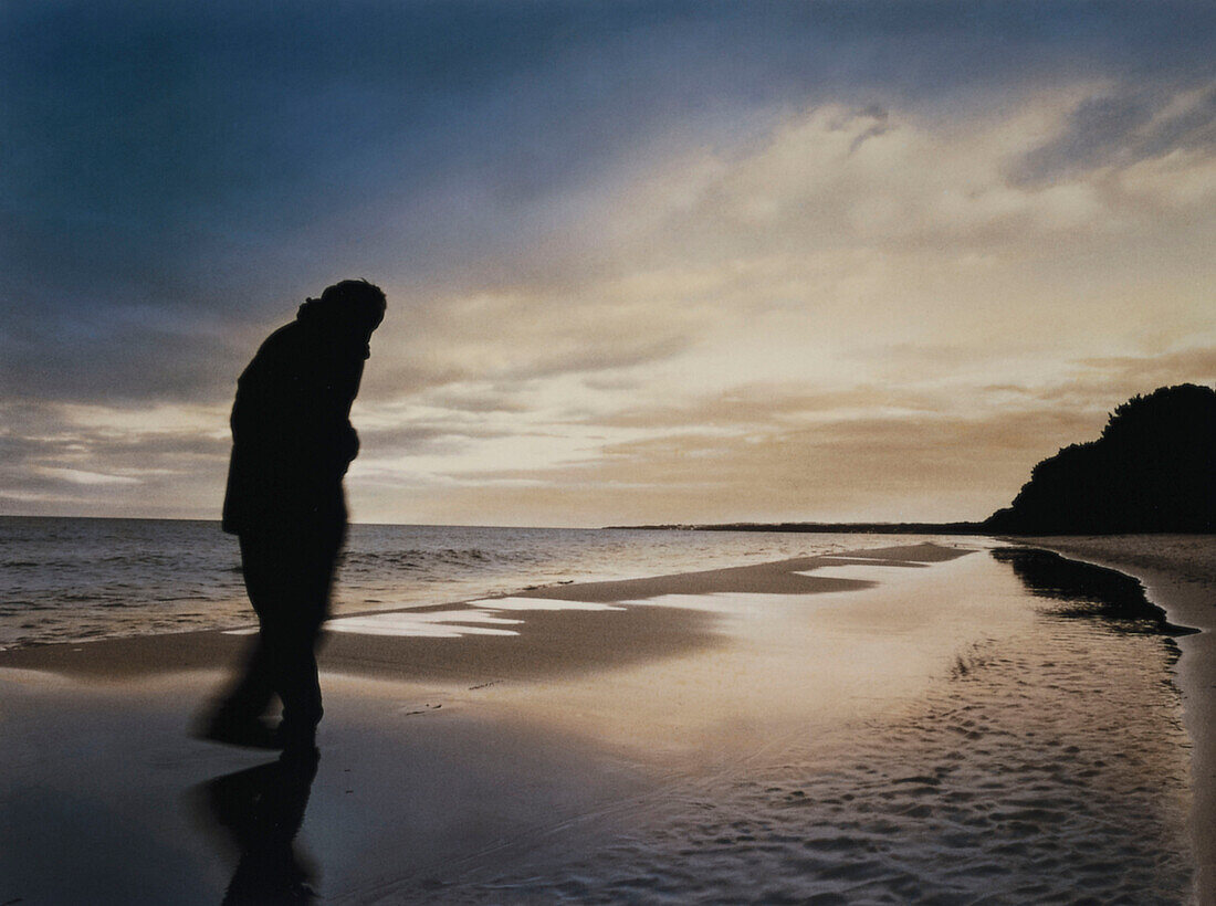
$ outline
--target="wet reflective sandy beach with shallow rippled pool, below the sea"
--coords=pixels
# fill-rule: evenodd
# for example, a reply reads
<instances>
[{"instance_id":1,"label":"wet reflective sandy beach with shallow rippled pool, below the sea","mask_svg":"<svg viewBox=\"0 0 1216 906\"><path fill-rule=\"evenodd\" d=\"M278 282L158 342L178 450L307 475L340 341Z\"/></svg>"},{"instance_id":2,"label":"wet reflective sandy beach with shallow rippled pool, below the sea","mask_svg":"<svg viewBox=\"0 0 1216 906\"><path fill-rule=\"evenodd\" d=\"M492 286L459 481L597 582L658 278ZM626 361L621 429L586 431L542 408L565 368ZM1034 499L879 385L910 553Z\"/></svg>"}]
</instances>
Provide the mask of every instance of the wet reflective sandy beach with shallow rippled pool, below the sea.
<instances>
[{"instance_id":1,"label":"wet reflective sandy beach with shallow rippled pool, below the sea","mask_svg":"<svg viewBox=\"0 0 1216 906\"><path fill-rule=\"evenodd\" d=\"M1122 565L1197 626L1166 548ZM241 630L0 652L0 904L1209 902L1210 635L1043 556L343 615L319 764L190 737Z\"/></svg>"}]
</instances>

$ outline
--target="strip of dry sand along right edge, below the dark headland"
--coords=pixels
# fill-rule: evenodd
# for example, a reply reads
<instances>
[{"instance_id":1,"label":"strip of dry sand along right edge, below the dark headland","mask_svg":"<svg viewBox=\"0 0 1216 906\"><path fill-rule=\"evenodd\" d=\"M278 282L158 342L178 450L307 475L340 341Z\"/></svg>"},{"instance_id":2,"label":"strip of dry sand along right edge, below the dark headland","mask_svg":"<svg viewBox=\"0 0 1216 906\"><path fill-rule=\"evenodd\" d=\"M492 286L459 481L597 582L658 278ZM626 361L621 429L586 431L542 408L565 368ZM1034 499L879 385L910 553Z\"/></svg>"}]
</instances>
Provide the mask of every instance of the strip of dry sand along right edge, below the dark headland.
<instances>
[{"instance_id":1,"label":"strip of dry sand along right edge, below the dark headland","mask_svg":"<svg viewBox=\"0 0 1216 906\"><path fill-rule=\"evenodd\" d=\"M998 538L1130 575L1170 623L1197 630L1175 638L1181 652L1175 676L1192 742L1197 902L1216 904L1216 536Z\"/></svg>"}]
</instances>

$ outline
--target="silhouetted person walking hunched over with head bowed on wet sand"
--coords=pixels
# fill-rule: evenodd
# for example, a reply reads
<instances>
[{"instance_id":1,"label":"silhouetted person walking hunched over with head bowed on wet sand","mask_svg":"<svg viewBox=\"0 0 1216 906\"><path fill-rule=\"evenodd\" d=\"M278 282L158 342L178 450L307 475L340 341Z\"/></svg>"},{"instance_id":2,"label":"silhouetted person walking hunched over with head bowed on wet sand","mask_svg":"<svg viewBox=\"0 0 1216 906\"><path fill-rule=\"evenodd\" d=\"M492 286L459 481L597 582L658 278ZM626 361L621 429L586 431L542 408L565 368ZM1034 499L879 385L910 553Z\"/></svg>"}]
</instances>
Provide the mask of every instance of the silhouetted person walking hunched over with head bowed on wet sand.
<instances>
[{"instance_id":1,"label":"silhouetted person walking hunched over with head bowed on wet sand","mask_svg":"<svg viewBox=\"0 0 1216 906\"><path fill-rule=\"evenodd\" d=\"M345 280L300 305L237 383L224 530L241 540L258 638L244 674L207 718L209 739L311 747L321 720L316 645L347 533L342 479L359 452L359 393L384 293ZM272 728L274 696L283 705Z\"/></svg>"}]
</instances>

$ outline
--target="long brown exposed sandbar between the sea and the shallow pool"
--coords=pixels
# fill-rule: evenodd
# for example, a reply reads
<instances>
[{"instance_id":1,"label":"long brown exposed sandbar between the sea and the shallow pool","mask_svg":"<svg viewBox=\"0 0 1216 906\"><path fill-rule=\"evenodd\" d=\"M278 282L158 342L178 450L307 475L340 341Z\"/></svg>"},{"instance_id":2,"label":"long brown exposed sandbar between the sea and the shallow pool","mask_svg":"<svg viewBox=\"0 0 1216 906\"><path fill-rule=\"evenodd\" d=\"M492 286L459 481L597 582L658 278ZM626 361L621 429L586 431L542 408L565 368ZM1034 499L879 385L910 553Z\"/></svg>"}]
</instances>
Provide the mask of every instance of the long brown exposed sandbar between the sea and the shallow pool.
<instances>
[{"instance_id":1,"label":"long brown exposed sandbar between the sea and the shallow pool","mask_svg":"<svg viewBox=\"0 0 1216 906\"><path fill-rule=\"evenodd\" d=\"M709 593L817 595L872 587L873 581L817 575L849 564L890 563L917 568L959 556L931 542L840 551L739 567L682 572L641 579L613 579L524 587L507 595L407 608L343 613L327 621L319 654L322 670L370 679L447 680L536 679L570 670L606 669L658 657L713 648L715 615L697 608L636 607L663 596ZM486 630L483 610L527 610L530 632ZM552 603L546 603L552 602ZM563 606L562 602L565 602ZM578 604L589 604L579 607ZM624 620L614 606L624 608ZM348 620L392 624L393 614L416 615L417 634L347 634ZM452 657L434 645L421 618L462 632ZM441 619L440 619L441 618ZM126 680L163 673L229 669L246 646L248 629L208 629L85 642L51 642L0 651L0 670L46 670L94 680ZM402 666L407 665L407 666Z\"/></svg>"}]
</instances>

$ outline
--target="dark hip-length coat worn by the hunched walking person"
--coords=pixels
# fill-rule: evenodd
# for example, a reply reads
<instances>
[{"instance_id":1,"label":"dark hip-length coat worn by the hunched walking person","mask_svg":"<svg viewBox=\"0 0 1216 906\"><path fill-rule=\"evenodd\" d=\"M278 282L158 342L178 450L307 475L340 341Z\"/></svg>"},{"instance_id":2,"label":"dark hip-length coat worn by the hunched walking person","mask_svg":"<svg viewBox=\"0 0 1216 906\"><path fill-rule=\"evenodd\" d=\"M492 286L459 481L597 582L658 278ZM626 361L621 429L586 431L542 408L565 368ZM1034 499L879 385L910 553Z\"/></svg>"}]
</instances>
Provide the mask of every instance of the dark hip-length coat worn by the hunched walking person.
<instances>
[{"instance_id":1,"label":"dark hip-length coat worn by the hunched walking person","mask_svg":"<svg viewBox=\"0 0 1216 906\"><path fill-rule=\"evenodd\" d=\"M350 404L367 347L309 317L306 308L270 334L237 382L224 499L227 533L345 523L342 478L359 452Z\"/></svg>"}]
</instances>

